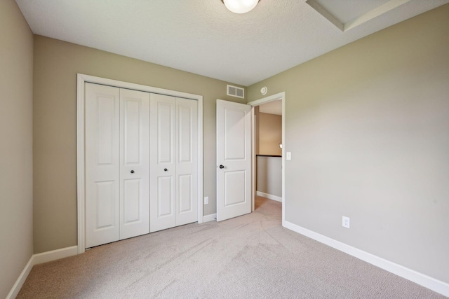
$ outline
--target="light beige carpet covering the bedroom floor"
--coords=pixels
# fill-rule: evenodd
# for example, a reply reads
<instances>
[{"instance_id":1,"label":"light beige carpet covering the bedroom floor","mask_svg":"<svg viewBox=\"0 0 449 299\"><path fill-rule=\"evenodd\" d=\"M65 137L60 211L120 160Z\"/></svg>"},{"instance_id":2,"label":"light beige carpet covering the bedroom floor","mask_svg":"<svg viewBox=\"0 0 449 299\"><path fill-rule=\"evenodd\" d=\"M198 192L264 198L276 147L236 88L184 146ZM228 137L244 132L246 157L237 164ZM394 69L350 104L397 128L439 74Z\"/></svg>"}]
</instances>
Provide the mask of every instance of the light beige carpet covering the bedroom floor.
<instances>
[{"instance_id":1,"label":"light beige carpet covering the bedroom floor","mask_svg":"<svg viewBox=\"0 0 449 299\"><path fill-rule=\"evenodd\" d=\"M282 228L281 203L36 265L18 298L444 298Z\"/></svg>"}]
</instances>

